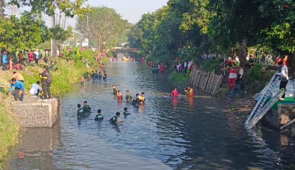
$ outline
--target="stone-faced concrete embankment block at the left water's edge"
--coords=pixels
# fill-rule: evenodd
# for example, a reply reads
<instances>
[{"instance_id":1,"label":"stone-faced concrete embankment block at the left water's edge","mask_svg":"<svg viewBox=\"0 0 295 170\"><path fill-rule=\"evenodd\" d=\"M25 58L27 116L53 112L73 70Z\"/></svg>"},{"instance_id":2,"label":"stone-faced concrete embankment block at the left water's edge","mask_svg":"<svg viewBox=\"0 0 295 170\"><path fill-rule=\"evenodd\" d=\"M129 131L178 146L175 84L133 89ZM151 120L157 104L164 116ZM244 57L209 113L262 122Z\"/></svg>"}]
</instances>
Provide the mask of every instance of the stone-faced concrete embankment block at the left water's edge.
<instances>
[{"instance_id":1,"label":"stone-faced concrete embankment block at the left water's edge","mask_svg":"<svg viewBox=\"0 0 295 170\"><path fill-rule=\"evenodd\" d=\"M14 103L15 113L19 116L23 127L52 127L59 119L60 100L26 101Z\"/></svg>"}]
</instances>

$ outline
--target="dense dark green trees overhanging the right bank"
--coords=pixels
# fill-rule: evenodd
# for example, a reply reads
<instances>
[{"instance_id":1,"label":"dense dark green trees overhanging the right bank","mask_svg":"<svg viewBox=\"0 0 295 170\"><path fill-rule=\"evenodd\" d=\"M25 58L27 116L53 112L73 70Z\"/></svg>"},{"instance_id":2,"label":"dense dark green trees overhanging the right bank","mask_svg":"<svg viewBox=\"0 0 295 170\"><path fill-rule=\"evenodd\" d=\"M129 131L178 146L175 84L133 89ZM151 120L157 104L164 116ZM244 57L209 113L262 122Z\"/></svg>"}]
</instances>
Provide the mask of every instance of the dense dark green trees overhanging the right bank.
<instances>
[{"instance_id":1,"label":"dense dark green trees overhanging the right bank","mask_svg":"<svg viewBox=\"0 0 295 170\"><path fill-rule=\"evenodd\" d=\"M213 53L237 55L244 64L247 47L295 51L294 9L294 0L169 0L144 14L128 38L158 62Z\"/></svg>"}]
</instances>

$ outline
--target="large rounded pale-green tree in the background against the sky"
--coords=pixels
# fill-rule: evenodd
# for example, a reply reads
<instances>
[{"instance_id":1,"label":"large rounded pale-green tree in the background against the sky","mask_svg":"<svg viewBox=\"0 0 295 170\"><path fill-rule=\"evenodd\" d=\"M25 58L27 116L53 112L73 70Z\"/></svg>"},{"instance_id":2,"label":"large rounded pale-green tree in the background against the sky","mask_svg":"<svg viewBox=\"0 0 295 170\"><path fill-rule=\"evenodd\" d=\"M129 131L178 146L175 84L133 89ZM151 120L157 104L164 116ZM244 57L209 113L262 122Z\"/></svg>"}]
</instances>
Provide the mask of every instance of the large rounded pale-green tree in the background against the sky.
<instances>
[{"instance_id":1,"label":"large rounded pale-green tree in the background against the sky","mask_svg":"<svg viewBox=\"0 0 295 170\"><path fill-rule=\"evenodd\" d=\"M131 28L128 21L123 20L115 9L106 6L92 7L85 15L89 16L89 25L87 17L77 17L76 29L84 37L88 37L89 26L91 40L96 42L99 49L116 46L120 40L124 40Z\"/></svg>"}]
</instances>

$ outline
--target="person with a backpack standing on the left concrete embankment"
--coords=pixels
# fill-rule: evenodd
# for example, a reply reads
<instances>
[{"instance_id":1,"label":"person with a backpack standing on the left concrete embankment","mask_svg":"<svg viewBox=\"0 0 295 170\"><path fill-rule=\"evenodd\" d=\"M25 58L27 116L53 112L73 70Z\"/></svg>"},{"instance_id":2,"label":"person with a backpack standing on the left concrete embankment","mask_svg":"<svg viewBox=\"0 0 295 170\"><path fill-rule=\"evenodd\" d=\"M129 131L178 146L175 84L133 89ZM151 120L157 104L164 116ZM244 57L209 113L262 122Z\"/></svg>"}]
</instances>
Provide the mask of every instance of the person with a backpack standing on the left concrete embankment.
<instances>
[{"instance_id":1,"label":"person with a backpack standing on the left concrete embankment","mask_svg":"<svg viewBox=\"0 0 295 170\"><path fill-rule=\"evenodd\" d=\"M39 71L39 77L42 79L42 90L44 94L44 99L52 99L50 85L52 83L52 76L49 72L47 66L44 66L44 71Z\"/></svg>"}]
</instances>

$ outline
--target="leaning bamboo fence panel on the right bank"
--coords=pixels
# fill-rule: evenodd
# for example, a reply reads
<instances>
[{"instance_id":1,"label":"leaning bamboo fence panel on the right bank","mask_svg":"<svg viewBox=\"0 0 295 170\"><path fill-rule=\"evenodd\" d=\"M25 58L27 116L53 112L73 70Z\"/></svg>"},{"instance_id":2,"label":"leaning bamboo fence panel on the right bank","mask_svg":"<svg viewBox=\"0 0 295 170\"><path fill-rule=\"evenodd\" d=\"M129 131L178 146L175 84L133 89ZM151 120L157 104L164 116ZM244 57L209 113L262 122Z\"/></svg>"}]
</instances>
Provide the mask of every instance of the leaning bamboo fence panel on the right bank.
<instances>
[{"instance_id":1,"label":"leaning bamboo fence panel on the right bank","mask_svg":"<svg viewBox=\"0 0 295 170\"><path fill-rule=\"evenodd\" d=\"M217 94L223 75L216 75L214 71L205 72L201 67L199 69L194 68L190 75L189 84L206 93Z\"/></svg>"}]
</instances>

